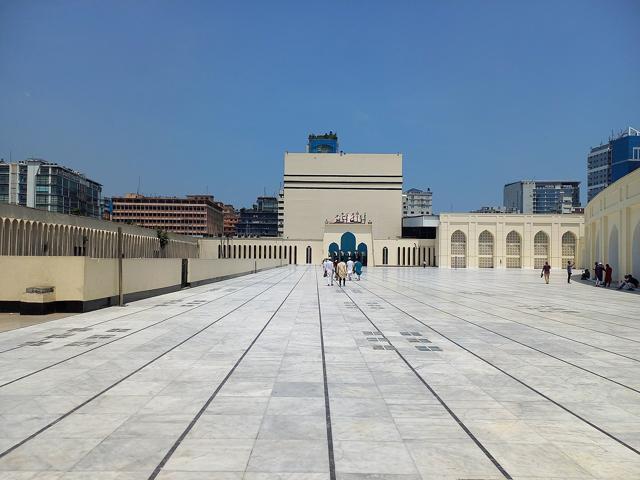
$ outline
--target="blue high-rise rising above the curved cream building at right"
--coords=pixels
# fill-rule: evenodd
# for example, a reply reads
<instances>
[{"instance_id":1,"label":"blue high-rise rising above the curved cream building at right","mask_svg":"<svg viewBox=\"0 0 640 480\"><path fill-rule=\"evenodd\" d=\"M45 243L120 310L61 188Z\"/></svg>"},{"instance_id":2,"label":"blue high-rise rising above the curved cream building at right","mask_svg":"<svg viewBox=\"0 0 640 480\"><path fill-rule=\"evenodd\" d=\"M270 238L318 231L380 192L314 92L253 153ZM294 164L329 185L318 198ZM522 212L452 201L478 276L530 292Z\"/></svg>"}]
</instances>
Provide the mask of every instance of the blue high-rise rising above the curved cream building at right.
<instances>
[{"instance_id":1,"label":"blue high-rise rising above the curved cream building at right","mask_svg":"<svg viewBox=\"0 0 640 480\"><path fill-rule=\"evenodd\" d=\"M640 131L628 127L587 155L587 202L640 166Z\"/></svg>"}]
</instances>

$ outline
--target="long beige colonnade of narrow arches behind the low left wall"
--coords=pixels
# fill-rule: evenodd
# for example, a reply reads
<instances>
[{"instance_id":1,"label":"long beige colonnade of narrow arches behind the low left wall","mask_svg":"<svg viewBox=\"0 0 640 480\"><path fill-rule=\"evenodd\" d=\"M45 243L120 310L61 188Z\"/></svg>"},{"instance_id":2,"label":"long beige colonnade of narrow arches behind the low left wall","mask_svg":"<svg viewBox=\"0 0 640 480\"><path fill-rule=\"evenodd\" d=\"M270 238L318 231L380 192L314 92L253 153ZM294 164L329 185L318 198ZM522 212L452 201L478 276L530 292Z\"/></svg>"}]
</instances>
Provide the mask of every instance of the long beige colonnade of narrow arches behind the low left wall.
<instances>
[{"instance_id":1,"label":"long beige colonnade of narrow arches behind the low left wall","mask_svg":"<svg viewBox=\"0 0 640 480\"><path fill-rule=\"evenodd\" d=\"M169 239L161 248L157 237L123 233L122 253L125 258L195 258L198 245ZM0 218L0 255L117 258L118 233L76 225Z\"/></svg>"}]
</instances>

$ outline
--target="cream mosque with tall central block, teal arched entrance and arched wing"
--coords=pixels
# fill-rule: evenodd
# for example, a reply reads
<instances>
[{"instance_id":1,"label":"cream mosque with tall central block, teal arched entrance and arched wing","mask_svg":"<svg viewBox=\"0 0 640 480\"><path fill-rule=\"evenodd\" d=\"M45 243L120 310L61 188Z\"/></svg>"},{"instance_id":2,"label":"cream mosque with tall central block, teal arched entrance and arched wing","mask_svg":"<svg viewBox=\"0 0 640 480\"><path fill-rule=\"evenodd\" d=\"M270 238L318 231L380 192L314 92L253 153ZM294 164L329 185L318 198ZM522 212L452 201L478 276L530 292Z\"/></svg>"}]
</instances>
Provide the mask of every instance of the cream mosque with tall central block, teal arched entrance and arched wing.
<instances>
[{"instance_id":1,"label":"cream mosque with tall central block, teal arched entrance and arched wing","mask_svg":"<svg viewBox=\"0 0 640 480\"><path fill-rule=\"evenodd\" d=\"M402 154L344 153L334 136L336 149L285 153L281 237L203 240L205 256L316 265L351 257L365 265L441 268L580 263L581 214L442 213L403 236ZM433 226L435 235L420 234Z\"/></svg>"}]
</instances>

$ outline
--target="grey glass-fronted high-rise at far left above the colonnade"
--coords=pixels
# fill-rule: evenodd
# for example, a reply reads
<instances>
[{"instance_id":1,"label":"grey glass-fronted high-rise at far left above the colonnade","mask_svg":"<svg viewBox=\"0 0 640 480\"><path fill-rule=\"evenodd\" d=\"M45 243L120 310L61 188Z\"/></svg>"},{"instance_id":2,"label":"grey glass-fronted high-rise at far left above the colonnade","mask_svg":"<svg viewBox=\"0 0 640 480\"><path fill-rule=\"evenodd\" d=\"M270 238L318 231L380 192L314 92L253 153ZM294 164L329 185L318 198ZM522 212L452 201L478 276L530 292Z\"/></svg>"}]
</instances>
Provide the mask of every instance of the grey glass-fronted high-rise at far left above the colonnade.
<instances>
[{"instance_id":1,"label":"grey glass-fronted high-rise at far left above the colonnade","mask_svg":"<svg viewBox=\"0 0 640 480\"><path fill-rule=\"evenodd\" d=\"M70 168L29 158L0 160L0 202L100 218L102 185Z\"/></svg>"}]
</instances>

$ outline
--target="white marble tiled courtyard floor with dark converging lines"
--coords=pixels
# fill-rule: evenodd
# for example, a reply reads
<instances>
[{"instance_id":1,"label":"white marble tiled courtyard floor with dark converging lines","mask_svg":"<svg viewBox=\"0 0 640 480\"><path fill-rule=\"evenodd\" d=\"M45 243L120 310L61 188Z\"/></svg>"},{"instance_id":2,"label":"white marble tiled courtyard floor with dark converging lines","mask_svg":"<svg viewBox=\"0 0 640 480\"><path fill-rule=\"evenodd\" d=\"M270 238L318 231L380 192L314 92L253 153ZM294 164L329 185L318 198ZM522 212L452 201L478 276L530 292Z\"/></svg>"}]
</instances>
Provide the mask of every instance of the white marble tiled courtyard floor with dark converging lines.
<instances>
[{"instance_id":1,"label":"white marble tiled courtyard floor with dark converging lines","mask_svg":"<svg viewBox=\"0 0 640 480\"><path fill-rule=\"evenodd\" d=\"M640 478L640 300L271 270L0 334L0 479Z\"/></svg>"}]
</instances>

